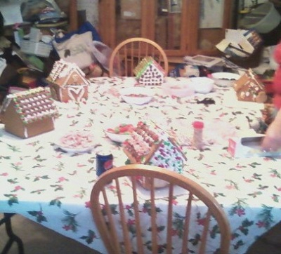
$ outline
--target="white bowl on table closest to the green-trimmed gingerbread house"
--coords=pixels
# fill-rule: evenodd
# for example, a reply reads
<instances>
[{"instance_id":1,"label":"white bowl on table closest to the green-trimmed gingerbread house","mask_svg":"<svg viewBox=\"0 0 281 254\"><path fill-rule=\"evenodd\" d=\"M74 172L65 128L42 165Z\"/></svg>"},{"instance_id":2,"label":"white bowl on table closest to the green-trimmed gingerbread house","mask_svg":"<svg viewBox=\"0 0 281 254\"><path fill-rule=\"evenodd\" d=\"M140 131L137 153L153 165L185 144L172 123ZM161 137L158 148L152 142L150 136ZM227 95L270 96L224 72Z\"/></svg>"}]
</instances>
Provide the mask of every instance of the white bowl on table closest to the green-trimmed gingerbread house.
<instances>
[{"instance_id":1,"label":"white bowl on table closest to the green-trimmed gingerbread house","mask_svg":"<svg viewBox=\"0 0 281 254\"><path fill-rule=\"evenodd\" d=\"M135 105L146 104L150 102L155 95L154 91L143 86L121 88L119 89L119 93L125 102Z\"/></svg>"}]
</instances>

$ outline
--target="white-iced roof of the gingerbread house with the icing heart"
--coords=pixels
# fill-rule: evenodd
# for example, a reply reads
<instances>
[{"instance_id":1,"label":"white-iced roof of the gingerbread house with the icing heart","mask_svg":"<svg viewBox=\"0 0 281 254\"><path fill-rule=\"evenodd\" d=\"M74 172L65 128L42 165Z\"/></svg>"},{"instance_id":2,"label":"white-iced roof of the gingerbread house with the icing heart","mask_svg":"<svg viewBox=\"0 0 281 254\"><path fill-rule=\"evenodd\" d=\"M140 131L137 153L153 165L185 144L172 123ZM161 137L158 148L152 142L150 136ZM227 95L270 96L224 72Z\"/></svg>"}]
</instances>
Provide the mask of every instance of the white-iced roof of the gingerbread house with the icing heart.
<instances>
[{"instance_id":1,"label":"white-iced roof of the gingerbread house with the icing heart","mask_svg":"<svg viewBox=\"0 0 281 254\"><path fill-rule=\"evenodd\" d=\"M74 62L67 62L63 59L56 61L48 81L57 83L59 86L88 84L84 72Z\"/></svg>"}]
</instances>

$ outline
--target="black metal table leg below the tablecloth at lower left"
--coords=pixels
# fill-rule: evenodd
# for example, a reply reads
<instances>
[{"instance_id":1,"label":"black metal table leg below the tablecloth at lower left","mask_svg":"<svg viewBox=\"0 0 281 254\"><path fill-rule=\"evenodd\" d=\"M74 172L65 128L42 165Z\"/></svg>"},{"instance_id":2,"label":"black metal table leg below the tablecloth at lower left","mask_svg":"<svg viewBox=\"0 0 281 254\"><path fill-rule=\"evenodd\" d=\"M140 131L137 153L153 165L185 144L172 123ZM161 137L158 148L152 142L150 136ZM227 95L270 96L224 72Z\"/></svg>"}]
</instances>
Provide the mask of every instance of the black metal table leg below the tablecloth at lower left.
<instances>
[{"instance_id":1,"label":"black metal table leg below the tablecloth at lower left","mask_svg":"<svg viewBox=\"0 0 281 254\"><path fill-rule=\"evenodd\" d=\"M8 253L8 250L10 250L10 248L11 248L11 246L12 246L14 241L18 244L18 253L19 254L24 254L25 253L25 251L23 249L22 240L20 239L20 237L16 236L13 233L12 224L11 224L11 218L13 217L13 215L15 215L15 213L4 213L4 218L2 218L0 220L0 226L2 224L5 224L6 233L7 233L8 238L9 238L7 243L6 243L6 246L2 250L1 254Z\"/></svg>"}]
</instances>

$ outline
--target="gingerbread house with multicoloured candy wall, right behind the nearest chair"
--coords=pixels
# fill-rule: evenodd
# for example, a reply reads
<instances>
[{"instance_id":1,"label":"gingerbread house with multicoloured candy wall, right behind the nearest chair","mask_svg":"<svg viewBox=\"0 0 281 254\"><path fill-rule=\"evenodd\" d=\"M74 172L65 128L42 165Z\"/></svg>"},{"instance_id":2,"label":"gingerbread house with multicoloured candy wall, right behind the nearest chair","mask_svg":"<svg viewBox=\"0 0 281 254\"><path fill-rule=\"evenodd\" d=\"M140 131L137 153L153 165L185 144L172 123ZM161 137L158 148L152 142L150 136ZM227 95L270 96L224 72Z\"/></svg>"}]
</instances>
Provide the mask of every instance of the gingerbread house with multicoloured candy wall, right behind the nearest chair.
<instances>
[{"instance_id":1,"label":"gingerbread house with multicoloured candy wall, right behind the nearest chair","mask_svg":"<svg viewBox=\"0 0 281 254\"><path fill-rule=\"evenodd\" d=\"M186 156L174 138L171 138L155 123L140 121L131 133L131 137L123 143L123 150L130 163L159 166L181 173ZM139 178L145 188L150 187L150 180ZM157 182L155 187L164 187L166 182Z\"/></svg>"}]
</instances>

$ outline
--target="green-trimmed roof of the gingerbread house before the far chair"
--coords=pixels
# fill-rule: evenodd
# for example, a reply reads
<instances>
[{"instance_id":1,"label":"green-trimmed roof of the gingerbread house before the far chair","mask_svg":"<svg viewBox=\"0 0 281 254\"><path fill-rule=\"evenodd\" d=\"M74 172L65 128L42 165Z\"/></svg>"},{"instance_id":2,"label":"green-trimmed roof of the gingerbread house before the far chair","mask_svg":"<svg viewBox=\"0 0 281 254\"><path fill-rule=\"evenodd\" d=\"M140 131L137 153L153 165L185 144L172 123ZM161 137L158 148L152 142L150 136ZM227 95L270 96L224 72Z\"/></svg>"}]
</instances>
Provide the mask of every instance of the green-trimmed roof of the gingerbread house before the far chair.
<instances>
[{"instance_id":1,"label":"green-trimmed roof of the gingerbread house before the far chair","mask_svg":"<svg viewBox=\"0 0 281 254\"><path fill-rule=\"evenodd\" d=\"M161 65L158 64L151 56L143 58L141 62L138 63L135 69L133 69L133 73L136 75L136 78L139 79L143 74L150 74L153 72L159 77L164 76L164 69Z\"/></svg>"}]
</instances>

